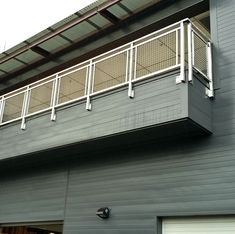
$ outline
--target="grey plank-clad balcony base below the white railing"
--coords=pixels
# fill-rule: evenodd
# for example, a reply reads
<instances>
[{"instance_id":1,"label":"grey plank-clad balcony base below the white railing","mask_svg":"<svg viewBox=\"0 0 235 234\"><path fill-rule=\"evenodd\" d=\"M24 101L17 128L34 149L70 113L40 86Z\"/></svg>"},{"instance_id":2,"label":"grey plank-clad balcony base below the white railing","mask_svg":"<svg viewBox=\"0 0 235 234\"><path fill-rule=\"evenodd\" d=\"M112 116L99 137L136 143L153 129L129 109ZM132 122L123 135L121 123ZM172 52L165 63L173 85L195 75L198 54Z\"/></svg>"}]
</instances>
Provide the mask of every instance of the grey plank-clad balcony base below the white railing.
<instances>
[{"instance_id":1,"label":"grey plank-clad balcony base below the white railing","mask_svg":"<svg viewBox=\"0 0 235 234\"><path fill-rule=\"evenodd\" d=\"M177 75L175 70L136 82L132 99L127 87L94 96L92 111L85 110L85 101L61 107L55 122L49 121L50 113L43 113L27 119L24 131L18 122L3 126L0 159L99 139L106 139L102 144L107 139L122 144L143 136L211 133L211 100L205 95L205 86L196 78L193 84L176 85Z\"/></svg>"}]
</instances>

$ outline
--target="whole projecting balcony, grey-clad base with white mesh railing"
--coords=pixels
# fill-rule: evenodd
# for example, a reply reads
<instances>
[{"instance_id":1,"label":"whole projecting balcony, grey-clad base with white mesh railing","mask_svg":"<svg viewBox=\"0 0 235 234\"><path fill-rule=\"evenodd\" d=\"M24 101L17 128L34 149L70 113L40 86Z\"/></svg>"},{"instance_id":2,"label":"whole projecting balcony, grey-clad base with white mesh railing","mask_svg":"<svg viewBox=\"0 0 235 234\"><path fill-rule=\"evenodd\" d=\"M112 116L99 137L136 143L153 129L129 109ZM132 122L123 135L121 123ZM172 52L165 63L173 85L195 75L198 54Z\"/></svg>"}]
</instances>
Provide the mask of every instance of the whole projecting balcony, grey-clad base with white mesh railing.
<instances>
[{"instance_id":1,"label":"whole projecting balcony, grey-clad base with white mesh railing","mask_svg":"<svg viewBox=\"0 0 235 234\"><path fill-rule=\"evenodd\" d=\"M210 40L185 19L1 96L0 144L25 154L176 122L211 133L213 95Z\"/></svg>"}]
</instances>

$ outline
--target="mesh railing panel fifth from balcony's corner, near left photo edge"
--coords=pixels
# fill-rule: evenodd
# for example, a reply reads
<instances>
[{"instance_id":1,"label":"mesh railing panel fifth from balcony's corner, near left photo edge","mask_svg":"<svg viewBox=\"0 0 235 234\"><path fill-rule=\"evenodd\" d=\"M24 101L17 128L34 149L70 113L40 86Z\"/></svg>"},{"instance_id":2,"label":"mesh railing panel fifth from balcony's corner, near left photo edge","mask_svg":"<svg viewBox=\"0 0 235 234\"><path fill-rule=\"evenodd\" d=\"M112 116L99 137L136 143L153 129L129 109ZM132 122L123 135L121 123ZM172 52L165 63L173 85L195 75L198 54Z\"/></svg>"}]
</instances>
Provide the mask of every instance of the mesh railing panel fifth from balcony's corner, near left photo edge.
<instances>
[{"instance_id":1,"label":"mesh railing panel fifth from balcony's corner, near left photo edge","mask_svg":"<svg viewBox=\"0 0 235 234\"><path fill-rule=\"evenodd\" d=\"M5 100L3 122L21 117L23 101L24 93L20 93Z\"/></svg>"}]
</instances>

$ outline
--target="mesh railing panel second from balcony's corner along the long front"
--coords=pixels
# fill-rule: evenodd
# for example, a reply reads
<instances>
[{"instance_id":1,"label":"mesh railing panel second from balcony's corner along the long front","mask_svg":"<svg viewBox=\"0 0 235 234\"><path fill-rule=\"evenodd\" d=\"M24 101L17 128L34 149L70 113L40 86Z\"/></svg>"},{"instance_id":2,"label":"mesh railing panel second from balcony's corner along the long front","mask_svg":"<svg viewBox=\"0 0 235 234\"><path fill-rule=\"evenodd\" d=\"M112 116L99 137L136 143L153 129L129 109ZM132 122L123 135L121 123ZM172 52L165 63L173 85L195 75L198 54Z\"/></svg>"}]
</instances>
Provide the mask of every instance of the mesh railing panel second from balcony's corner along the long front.
<instances>
[{"instance_id":1,"label":"mesh railing panel second from balcony's corner along the long front","mask_svg":"<svg viewBox=\"0 0 235 234\"><path fill-rule=\"evenodd\" d=\"M123 52L95 65L93 92L125 82L127 53Z\"/></svg>"}]
</instances>

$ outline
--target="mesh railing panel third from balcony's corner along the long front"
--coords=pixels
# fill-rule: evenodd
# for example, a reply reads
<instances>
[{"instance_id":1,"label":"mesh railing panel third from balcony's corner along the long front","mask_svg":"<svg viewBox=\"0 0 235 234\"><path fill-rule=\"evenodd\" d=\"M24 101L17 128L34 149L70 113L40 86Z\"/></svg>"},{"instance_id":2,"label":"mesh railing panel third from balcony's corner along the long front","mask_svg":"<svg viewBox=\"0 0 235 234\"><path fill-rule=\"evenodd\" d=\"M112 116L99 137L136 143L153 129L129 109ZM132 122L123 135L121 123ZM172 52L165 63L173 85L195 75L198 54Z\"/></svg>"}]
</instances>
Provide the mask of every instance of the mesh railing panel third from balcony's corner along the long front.
<instances>
[{"instance_id":1,"label":"mesh railing panel third from balcony's corner along the long front","mask_svg":"<svg viewBox=\"0 0 235 234\"><path fill-rule=\"evenodd\" d=\"M85 95L86 68L61 77L59 103Z\"/></svg>"}]
</instances>

